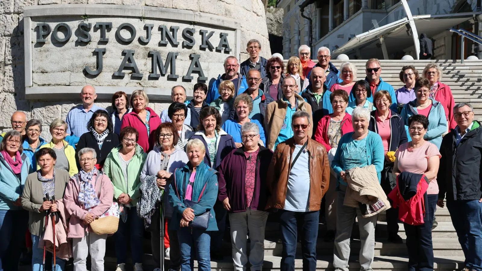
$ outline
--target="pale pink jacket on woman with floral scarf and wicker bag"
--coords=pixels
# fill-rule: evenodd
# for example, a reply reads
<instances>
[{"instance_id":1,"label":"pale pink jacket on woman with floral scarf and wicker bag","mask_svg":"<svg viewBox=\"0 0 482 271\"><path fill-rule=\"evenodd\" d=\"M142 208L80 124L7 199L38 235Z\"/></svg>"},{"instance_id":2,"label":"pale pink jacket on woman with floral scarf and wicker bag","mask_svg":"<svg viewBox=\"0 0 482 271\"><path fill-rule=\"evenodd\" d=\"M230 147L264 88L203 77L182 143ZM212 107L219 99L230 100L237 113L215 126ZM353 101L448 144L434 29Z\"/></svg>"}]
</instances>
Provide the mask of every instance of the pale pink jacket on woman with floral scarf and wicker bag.
<instances>
[{"instance_id":1,"label":"pale pink jacket on woman with floral scarf and wicker bag","mask_svg":"<svg viewBox=\"0 0 482 271\"><path fill-rule=\"evenodd\" d=\"M83 220L87 213L91 213L94 218L97 218L104 214L110 206L112 206L112 200L114 198L114 187L112 182L110 182L109 177L98 171L94 174L93 182L95 186L95 191L99 191L99 186L102 186L100 193L97 195L99 197L100 203L89 211L85 210L84 206L80 206L79 203L79 184L78 178L80 174L76 174L70 178L67 184L64 195L64 204L67 209L67 213L71 216L68 221L68 238L82 238L85 236L85 231L90 231L90 227L84 225ZM97 177L98 176L98 177Z\"/></svg>"}]
</instances>

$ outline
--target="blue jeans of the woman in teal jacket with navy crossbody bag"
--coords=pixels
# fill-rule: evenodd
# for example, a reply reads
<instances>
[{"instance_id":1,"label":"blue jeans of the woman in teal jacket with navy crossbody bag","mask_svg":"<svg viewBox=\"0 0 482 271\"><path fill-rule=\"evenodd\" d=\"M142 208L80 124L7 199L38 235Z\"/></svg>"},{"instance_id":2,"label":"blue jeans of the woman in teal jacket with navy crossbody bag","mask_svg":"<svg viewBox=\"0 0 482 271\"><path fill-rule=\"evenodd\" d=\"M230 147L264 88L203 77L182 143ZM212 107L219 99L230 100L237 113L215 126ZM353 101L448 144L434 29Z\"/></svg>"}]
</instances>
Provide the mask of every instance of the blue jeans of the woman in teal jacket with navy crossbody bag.
<instances>
[{"instance_id":1,"label":"blue jeans of the woman in teal jacket with navy crossbody bag","mask_svg":"<svg viewBox=\"0 0 482 271\"><path fill-rule=\"evenodd\" d=\"M198 258L199 271L211 271L211 231L182 227L177 231L177 238L181 251L181 271L194 270L194 256Z\"/></svg>"}]
</instances>

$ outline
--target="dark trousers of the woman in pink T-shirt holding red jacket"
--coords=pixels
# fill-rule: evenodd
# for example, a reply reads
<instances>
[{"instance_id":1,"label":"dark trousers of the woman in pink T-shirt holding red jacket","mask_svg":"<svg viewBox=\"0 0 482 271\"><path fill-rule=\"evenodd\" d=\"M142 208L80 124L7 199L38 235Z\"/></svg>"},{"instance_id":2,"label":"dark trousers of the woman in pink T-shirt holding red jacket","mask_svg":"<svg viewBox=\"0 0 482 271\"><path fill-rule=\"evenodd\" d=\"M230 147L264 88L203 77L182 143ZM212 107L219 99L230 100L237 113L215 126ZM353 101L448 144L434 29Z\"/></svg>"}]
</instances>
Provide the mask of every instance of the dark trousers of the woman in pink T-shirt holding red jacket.
<instances>
[{"instance_id":1,"label":"dark trousers of the woman in pink T-shirt holding red jacket","mask_svg":"<svg viewBox=\"0 0 482 271\"><path fill-rule=\"evenodd\" d=\"M424 223L422 225L403 223L405 233L407 234L406 245L409 271L433 270L432 223L433 212L438 198L438 194L427 195L428 209L425 210Z\"/></svg>"}]
</instances>

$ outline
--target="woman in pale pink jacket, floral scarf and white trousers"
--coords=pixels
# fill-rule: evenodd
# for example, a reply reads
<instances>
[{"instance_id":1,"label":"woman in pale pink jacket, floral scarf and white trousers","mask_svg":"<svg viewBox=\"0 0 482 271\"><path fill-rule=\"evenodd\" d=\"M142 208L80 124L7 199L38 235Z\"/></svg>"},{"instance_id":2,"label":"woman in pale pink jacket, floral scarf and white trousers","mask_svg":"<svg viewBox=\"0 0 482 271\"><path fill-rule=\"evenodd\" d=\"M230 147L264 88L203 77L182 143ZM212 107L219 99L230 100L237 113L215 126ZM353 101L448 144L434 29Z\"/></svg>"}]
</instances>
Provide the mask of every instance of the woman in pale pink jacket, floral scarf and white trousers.
<instances>
[{"instance_id":1,"label":"woman in pale pink jacket, floral scarf and white trousers","mask_svg":"<svg viewBox=\"0 0 482 271\"><path fill-rule=\"evenodd\" d=\"M91 270L104 271L107 234L95 234L89 224L112 206L114 188L109 177L95 167L94 149L80 149L78 156L80 172L70 178L64 195L70 215L67 238L72 238L74 270L87 270L90 254Z\"/></svg>"}]
</instances>

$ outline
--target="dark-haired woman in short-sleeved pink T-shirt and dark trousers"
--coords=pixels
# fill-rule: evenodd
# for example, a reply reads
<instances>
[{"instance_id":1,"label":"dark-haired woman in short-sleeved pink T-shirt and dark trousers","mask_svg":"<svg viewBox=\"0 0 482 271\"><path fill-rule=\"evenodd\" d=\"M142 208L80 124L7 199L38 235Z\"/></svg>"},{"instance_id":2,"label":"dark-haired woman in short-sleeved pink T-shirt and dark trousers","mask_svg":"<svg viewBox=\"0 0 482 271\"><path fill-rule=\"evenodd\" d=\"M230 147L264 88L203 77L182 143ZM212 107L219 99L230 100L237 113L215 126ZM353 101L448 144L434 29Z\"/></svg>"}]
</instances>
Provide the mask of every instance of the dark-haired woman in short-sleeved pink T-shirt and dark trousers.
<instances>
[{"instance_id":1,"label":"dark-haired woman in short-sleeved pink T-shirt and dark trousers","mask_svg":"<svg viewBox=\"0 0 482 271\"><path fill-rule=\"evenodd\" d=\"M395 153L396 159L393 166L395 177L403 171L408 171L424 174L429 181L428 204L426 203L428 208L425 208L423 215L424 223L422 225L403 223L407 235L409 270L433 270L432 222L439 194L437 172L441 155L435 144L425 140L428 126L429 120L424 115L413 115L408 119L412 141L399 147Z\"/></svg>"}]
</instances>

